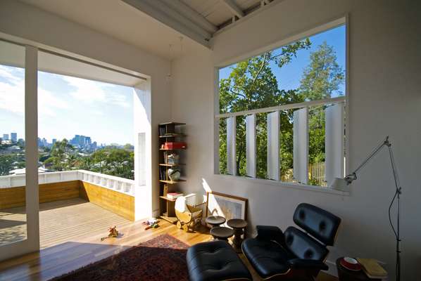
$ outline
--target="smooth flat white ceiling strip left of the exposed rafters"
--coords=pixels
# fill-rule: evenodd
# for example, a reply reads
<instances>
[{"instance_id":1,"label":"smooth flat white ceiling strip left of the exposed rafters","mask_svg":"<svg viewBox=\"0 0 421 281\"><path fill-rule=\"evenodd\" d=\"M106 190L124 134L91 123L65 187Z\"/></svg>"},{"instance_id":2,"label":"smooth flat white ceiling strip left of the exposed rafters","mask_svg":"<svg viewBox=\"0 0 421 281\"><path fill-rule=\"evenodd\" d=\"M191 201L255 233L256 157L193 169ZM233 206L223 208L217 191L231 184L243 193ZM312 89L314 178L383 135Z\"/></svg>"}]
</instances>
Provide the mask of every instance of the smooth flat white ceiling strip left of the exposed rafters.
<instances>
[{"instance_id":1,"label":"smooth flat white ceiling strip left of the exposed rafters","mask_svg":"<svg viewBox=\"0 0 421 281\"><path fill-rule=\"evenodd\" d=\"M171 60L182 55L182 34L119 0L21 0L144 51ZM183 53L205 48L184 37ZM172 52L169 45L173 44Z\"/></svg>"}]
</instances>

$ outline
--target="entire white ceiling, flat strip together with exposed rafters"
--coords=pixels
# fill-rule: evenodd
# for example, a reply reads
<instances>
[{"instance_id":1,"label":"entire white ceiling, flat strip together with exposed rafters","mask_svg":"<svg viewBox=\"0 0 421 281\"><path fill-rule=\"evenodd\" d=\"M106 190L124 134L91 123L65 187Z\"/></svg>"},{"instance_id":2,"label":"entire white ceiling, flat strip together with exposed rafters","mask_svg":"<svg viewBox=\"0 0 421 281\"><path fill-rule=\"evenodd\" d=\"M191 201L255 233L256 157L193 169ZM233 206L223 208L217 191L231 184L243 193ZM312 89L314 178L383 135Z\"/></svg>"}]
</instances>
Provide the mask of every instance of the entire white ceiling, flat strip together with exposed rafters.
<instances>
[{"instance_id":1,"label":"entire white ceiling, flat strip together with exposed rafters","mask_svg":"<svg viewBox=\"0 0 421 281\"><path fill-rule=\"evenodd\" d=\"M213 34L230 24L236 11L238 19L260 7L260 0L20 1L169 60L209 48Z\"/></svg>"}]
</instances>

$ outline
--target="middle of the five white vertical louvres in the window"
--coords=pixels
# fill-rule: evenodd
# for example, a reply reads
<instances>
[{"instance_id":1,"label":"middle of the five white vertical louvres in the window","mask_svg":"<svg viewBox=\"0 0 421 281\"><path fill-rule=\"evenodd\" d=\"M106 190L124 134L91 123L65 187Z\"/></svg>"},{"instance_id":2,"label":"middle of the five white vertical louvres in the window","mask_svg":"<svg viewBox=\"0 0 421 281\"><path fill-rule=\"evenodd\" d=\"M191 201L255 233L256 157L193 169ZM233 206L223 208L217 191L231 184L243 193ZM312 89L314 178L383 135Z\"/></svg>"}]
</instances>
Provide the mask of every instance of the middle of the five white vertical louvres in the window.
<instances>
[{"instance_id":1,"label":"middle of the five white vertical louvres in the window","mask_svg":"<svg viewBox=\"0 0 421 281\"><path fill-rule=\"evenodd\" d=\"M279 181L279 111L268 113L268 178Z\"/></svg>"}]
</instances>

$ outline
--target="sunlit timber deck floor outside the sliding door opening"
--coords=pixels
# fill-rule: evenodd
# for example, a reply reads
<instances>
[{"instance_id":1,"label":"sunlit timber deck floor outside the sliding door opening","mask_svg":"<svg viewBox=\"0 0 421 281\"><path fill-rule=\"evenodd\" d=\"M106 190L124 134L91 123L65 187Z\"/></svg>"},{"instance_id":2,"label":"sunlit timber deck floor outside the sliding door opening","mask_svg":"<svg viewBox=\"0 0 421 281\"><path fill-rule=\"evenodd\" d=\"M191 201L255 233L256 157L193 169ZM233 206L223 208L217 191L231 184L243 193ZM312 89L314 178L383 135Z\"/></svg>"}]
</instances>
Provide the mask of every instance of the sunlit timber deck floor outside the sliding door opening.
<instances>
[{"instance_id":1,"label":"sunlit timber deck floor outside the sliding door opening","mask_svg":"<svg viewBox=\"0 0 421 281\"><path fill-rule=\"evenodd\" d=\"M39 204L41 249L83 237L106 236L110 226L122 228L130 223L82 198ZM25 239L25 207L0 210L0 233L0 246Z\"/></svg>"}]
</instances>

